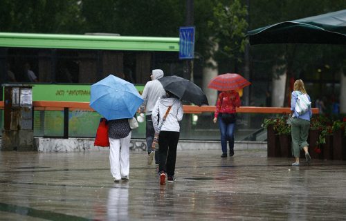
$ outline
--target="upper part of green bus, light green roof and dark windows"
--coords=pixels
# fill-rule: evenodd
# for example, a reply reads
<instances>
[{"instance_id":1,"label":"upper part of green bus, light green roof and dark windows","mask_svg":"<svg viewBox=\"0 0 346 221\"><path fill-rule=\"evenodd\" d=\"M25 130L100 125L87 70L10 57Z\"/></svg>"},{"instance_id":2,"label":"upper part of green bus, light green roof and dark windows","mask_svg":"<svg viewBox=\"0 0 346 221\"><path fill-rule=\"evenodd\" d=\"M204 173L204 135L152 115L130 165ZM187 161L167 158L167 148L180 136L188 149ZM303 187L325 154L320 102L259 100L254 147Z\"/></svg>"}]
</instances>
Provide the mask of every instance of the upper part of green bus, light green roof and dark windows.
<instances>
[{"instance_id":1,"label":"upper part of green bus, light green roof and dark windows","mask_svg":"<svg viewBox=\"0 0 346 221\"><path fill-rule=\"evenodd\" d=\"M179 37L0 32L2 84L93 84L110 73L134 84L145 84L154 68L183 68Z\"/></svg>"}]
</instances>

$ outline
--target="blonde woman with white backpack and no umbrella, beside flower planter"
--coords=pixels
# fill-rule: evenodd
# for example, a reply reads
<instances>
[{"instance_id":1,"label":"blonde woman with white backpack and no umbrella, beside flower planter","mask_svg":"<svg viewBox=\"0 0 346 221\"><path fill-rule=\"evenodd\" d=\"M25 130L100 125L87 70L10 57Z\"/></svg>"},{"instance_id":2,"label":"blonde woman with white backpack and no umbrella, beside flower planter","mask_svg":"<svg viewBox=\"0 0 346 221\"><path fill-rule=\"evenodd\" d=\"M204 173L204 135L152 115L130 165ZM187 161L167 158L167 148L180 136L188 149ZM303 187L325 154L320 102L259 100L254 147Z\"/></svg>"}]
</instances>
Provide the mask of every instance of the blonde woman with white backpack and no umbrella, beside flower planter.
<instances>
[{"instance_id":1,"label":"blonde woman with white backpack and no umbrella, beside flower planter","mask_svg":"<svg viewBox=\"0 0 346 221\"><path fill-rule=\"evenodd\" d=\"M300 151L304 150L307 164L311 162L309 155L309 144L307 137L310 129L311 99L307 95L304 82L298 79L294 82L293 92L291 94L291 136L292 136L292 155L295 157L295 162L292 166L299 166Z\"/></svg>"}]
</instances>

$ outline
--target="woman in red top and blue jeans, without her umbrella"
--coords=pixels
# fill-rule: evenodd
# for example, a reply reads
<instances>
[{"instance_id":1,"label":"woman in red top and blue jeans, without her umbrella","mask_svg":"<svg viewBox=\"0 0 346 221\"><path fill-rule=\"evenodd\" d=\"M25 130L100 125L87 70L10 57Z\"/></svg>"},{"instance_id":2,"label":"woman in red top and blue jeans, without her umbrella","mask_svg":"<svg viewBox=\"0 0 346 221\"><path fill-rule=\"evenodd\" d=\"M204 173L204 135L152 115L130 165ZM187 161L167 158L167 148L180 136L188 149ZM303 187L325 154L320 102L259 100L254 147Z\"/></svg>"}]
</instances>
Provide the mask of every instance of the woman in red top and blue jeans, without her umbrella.
<instances>
[{"instance_id":1,"label":"woman in red top and blue jeans, without her umbrella","mask_svg":"<svg viewBox=\"0 0 346 221\"><path fill-rule=\"evenodd\" d=\"M240 106L239 93L235 90L226 90L219 94L213 122L219 119L219 129L221 133L221 157L227 157L227 141L232 157L235 146L235 122L237 117L236 108Z\"/></svg>"}]
</instances>

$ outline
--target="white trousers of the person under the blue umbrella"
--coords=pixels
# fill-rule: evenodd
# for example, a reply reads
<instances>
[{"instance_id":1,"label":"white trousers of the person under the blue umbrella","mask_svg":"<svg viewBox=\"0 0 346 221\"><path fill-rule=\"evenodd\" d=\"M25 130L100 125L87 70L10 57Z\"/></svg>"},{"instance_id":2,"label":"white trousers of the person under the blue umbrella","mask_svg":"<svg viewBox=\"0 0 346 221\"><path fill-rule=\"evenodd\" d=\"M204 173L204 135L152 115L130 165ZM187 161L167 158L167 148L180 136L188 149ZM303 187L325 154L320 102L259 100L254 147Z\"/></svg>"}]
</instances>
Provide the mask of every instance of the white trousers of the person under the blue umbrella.
<instances>
[{"instance_id":1,"label":"white trousers of the person under the blue umbrella","mask_svg":"<svg viewBox=\"0 0 346 221\"><path fill-rule=\"evenodd\" d=\"M114 179L129 175L129 143L131 132L127 137L120 139L109 138L109 162L111 164L111 175Z\"/></svg>"}]
</instances>

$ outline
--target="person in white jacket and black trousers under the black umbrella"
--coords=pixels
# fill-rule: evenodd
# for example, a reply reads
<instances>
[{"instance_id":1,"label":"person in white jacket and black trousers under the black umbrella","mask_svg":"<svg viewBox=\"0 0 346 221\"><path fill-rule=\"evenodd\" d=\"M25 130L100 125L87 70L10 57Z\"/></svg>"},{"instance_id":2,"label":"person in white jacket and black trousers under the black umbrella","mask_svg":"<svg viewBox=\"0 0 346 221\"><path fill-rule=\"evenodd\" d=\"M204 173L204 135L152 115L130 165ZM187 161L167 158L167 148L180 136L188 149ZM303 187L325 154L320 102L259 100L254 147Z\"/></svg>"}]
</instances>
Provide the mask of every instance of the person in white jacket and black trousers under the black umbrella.
<instances>
[{"instance_id":1,"label":"person in white jacket and black trousers under the black umbrella","mask_svg":"<svg viewBox=\"0 0 346 221\"><path fill-rule=\"evenodd\" d=\"M163 117L165 117L165 121L161 126L161 131L158 131L158 122L163 121ZM176 96L166 91L165 95L158 99L152 111L154 130L160 134L158 137L160 146L158 171L161 185L166 183L166 173L167 182L175 180L176 147L179 142L181 119L183 119L183 104Z\"/></svg>"}]
</instances>

